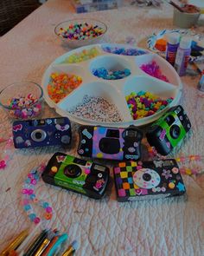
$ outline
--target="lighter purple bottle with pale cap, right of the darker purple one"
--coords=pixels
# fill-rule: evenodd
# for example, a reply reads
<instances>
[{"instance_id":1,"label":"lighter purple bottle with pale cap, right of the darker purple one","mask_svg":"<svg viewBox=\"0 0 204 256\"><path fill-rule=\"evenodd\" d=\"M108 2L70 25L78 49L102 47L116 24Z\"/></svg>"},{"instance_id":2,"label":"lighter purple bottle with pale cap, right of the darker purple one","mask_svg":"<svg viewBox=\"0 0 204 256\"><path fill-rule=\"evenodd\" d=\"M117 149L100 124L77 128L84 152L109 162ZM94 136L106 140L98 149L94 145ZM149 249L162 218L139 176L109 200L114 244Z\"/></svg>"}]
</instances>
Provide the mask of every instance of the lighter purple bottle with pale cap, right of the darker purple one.
<instances>
[{"instance_id":1,"label":"lighter purple bottle with pale cap, right of the darker purple one","mask_svg":"<svg viewBox=\"0 0 204 256\"><path fill-rule=\"evenodd\" d=\"M175 70L180 76L186 75L188 59L191 52L191 43L192 40L187 36L184 36L179 44L179 48L175 56Z\"/></svg>"}]
</instances>

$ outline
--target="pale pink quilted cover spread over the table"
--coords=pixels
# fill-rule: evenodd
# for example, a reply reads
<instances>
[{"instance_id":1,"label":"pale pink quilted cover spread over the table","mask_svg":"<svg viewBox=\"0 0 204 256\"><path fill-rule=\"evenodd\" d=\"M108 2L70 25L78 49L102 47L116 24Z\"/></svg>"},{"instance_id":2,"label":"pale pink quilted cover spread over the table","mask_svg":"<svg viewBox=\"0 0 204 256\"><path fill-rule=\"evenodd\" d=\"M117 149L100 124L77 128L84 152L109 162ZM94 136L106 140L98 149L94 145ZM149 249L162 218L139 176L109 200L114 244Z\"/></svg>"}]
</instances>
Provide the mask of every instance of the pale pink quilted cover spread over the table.
<instances>
[{"instance_id":1,"label":"pale pink quilted cover spread over the table","mask_svg":"<svg viewBox=\"0 0 204 256\"><path fill-rule=\"evenodd\" d=\"M54 26L78 16L92 17L105 22L108 31L105 41L125 43L131 36L139 46L146 47L146 37L152 32L172 29L173 10L126 6L77 15L67 0L49 0L0 39L0 89L12 82L33 81L41 84L41 77L50 62L67 52L54 35ZM192 122L192 132L171 156L203 154L204 100L196 89L199 77L182 78L181 104ZM45 103L43 117L54 117L54 109ZM0 109L1 136L10 134L10 121ZM72 147L67 154L76 154L77 125L73 125ZM0 159L4 144L0 143ZM31 226L22 209L21 190L29 170L47 162L64 148L12 149L11 160L0 172L0 248L17 233ZM103 161L105 163L105 161ZM189 167L202 162L190 163ZM187 166L188 167L188 166ZM187 195L168 200L146 200L118 203L115 187L109 188L103 200L92 200L80 194L52 187L40 181L37 194L53 207L51 226L78 240L76 255L204 255L204 174L183 175Z\"/></svg>"}]
</instances>

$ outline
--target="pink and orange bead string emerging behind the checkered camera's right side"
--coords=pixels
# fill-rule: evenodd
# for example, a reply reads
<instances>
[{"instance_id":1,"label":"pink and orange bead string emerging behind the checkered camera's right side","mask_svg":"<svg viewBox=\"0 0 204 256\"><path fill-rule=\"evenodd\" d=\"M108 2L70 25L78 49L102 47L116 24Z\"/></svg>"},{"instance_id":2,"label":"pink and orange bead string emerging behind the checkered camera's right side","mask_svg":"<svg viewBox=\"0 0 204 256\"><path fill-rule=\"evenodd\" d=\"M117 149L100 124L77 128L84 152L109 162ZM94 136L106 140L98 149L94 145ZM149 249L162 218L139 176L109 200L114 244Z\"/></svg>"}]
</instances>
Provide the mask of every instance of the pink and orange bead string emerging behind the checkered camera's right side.
<instances>
[{"instance_id":1,"label":"pink and orange bead string emerging behind the checkered camera's right side","mask_svg":"<svg viewBox=\"0 0 204 256\"><path fill-rule=\"evenodd\" d=\"M150 158L156 159L156 160L164 160L167 157L163 156L162 154L158 154L156 151L156 148L154 147L148 147L148 153ZM200 154L190 154L188 156L180 156L176 157L175 161L180 164L180 163L185 163L185 162L190 162L190 161L202 161L204 160L204 156ZM198 174L203 174L204 171L201 171L199 167L194 167L194 168L189 168L189 167L180 167L180 172L181 174L187 174L187 175L198 175Z\"/></svg>"}]
</instances>

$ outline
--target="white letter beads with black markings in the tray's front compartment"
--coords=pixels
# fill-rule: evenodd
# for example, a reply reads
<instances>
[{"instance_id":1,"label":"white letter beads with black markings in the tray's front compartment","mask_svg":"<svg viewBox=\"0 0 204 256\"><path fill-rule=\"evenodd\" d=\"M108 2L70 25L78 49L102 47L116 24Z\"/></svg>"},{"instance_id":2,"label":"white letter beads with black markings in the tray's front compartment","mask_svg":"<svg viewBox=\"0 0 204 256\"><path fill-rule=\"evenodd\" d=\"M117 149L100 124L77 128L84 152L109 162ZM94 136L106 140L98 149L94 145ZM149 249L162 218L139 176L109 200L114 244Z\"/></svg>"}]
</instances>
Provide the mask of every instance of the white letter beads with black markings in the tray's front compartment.
<instances>
[{"instance_id":1,"label":"white letter beads with black markings in the tray's front compartment","mask_svg":"<svg viewBox=\"0 0 204 256\"><path fill-rule=\"evenodd\" d=\"M68 112L94 121L122 121L118 108L102 97L85 95L82 102L68 109Z\"/></svg>"}]
</instances>

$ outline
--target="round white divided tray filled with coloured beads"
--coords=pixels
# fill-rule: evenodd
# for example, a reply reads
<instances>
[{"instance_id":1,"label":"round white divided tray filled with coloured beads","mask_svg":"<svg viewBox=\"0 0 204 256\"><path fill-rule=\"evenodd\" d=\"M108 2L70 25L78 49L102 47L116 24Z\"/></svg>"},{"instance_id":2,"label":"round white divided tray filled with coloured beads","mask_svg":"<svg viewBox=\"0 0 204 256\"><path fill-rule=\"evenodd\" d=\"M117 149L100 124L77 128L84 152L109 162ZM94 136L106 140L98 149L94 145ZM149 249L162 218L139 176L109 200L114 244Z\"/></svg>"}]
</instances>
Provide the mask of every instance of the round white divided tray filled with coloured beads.
<instances>
[{"instance_id":1,"label":"round white divided tray filled with coloured beads","mask_svg":"<svg viewBox=\"0 0 204 256\"><path fill-rule=\"evenodd\" d=\"M59 115L107 127L147 125L178 104L182 95L182 81L169 62L118 43L68 51L50 63L41 84L46 102Z\"/></svg>"}]
</instances>

